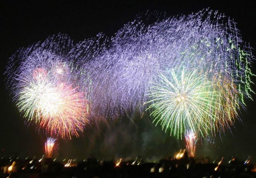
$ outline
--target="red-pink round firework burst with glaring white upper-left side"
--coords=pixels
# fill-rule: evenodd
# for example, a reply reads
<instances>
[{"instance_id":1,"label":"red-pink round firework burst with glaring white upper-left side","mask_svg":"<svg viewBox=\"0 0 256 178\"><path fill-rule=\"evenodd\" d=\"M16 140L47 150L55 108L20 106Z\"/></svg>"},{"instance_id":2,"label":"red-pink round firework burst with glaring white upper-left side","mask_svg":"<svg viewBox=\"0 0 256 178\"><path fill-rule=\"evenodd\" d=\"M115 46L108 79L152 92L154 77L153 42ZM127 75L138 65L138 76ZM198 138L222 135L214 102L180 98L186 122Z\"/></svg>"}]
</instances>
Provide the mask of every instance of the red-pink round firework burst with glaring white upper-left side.
<instances>
[{"instance_id":1,"label":"red-pink round firework burst with glaring white upper-left side","mask_svg":"<svg viewBox=\"0 0 256 178\"><path fill-rule=\"evenodd\" d=\"M86 100L83 93L76 92L71 86L61 83L51 93L45 93L39 104L42 109L40 126L49 130L52 135L71 139L72 135L79 136L86 122Z\"/></svg>"}]
</instances>

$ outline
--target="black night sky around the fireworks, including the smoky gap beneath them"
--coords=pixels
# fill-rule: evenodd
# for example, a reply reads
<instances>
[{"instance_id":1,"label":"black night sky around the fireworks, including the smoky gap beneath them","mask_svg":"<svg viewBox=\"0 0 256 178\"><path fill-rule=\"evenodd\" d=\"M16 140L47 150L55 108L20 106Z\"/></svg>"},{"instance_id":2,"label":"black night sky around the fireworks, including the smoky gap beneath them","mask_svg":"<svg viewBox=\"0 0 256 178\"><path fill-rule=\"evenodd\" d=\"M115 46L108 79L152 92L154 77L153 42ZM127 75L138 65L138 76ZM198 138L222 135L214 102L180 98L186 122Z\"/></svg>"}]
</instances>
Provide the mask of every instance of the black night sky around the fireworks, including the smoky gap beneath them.
<instances>
[{"instance_id":1,"label":"black night sky around the fireworks, including the smoky gap beneath them","mask_svg":"<svg viewBox=\"0 0 256 178\"><path fill-rule=\"evenodd\" d=\"M152 1L151 1L152 2ZM5 90L3 72L8 58L20 47L45 40L49 35L59 32L68 34L75 41L95 37L99 32L111 36L122 25L132 21L136 14L147 10L166 12L168 16L190 14L210 7L234 18L243 40L256 48L255 2L221 1L216 3L128 0L119 1L3 1L0 5L0 73L1 73L1 122L0 148L5 154L18 154L39 157L43 154L46 136L32 125L24 123L12 98ZM253 50L253 54L256 51ZM256 70L254 70L256 71ZM253 78L256 81L256 78ZM255 88L255 87L254 87ZM256 99L256 96L253 96ZM256 162L256 118L255 102L247 102L247 111L242 112L243 123L236 122L236 129L215 138L215 144L198 146L197 155L211 158L224 156L226 159L237 155L245 160L253 155ZM155 159L173 155L184 147L184 140L177 141L155 127L150 118L140 119L134 114L129 120L98 121L86 127L80 138L59 141L62 157L83 159L92 154L99 158L144 158ZM219 148L218 148L219 147Z\"/></svg>"}]
</instances>

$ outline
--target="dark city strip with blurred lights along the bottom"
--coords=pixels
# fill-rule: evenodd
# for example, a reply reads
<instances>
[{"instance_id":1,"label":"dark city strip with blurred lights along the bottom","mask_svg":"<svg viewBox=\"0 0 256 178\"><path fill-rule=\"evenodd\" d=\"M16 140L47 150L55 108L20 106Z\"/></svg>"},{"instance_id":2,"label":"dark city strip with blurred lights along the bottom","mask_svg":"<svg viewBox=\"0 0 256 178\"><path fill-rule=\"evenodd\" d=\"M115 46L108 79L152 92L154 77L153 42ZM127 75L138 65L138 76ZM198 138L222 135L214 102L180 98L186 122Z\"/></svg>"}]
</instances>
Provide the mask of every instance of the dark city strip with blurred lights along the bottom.
<instances>
[{"instance_id":1,"label":"dark city strip with blurred lights along the bottom","mask_svg":"<svg viewBox=\"0 0 256 178\"><path fill-rule=\"evenodd\" d=\"M159 163L140 161L98 161L89 158L77 164L60 164L51 159L1 160L0 178L256 178L256 165L232 161L210 163L193 158L163 159Z\"/></svg>"}]
</instances>

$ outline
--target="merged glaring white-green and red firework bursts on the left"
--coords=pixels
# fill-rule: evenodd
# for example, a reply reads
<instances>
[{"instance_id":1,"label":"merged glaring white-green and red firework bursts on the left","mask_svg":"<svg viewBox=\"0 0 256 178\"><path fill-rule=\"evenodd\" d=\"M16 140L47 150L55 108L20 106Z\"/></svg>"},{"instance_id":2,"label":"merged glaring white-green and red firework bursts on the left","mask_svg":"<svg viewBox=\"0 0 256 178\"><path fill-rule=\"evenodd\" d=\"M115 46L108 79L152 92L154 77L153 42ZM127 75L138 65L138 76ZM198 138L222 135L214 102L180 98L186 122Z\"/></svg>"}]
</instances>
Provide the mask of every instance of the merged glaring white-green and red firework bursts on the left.
<instances>
[{"instance_id":1,"label":"merged glaring white-green and red firework bursts on the left","mask_svg":"<svg viewBox=\"0 0 256 178\"><path fill-rule=\"evenodd\" d=\"M31 76L17 97L17 107L24 117L39 122L51 135L71 138L83 131L87 101L76 88L47 79L33 80Z\"/></svg>"}]
</instances>

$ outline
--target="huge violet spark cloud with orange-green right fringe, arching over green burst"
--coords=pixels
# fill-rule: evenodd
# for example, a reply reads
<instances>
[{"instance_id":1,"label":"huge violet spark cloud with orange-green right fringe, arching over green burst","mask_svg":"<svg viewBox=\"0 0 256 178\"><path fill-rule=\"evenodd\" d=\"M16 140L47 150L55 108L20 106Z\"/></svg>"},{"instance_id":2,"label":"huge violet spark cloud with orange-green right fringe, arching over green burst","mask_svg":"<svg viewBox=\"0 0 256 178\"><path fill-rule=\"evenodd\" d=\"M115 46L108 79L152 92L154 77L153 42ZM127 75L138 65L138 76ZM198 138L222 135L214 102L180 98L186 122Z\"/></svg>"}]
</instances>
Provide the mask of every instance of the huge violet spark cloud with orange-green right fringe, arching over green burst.
<instances>
[{"instance_id":1,"label":"huge violet spark cloud with orange-green right fringe, arching over green burst","mask_svg":"<svg viewBox=\"0 0 256 178\"><path fill-rule=\"evenodd\" d=\"M158 83L158 76L184 66L204 75L214 84L212 91L219 92L219 105L214 106L219 119L209 121L213 134L230 130L245 106L244 98L251 97L250 62L254 59L236 24L209 9L173 18L145 17L155 23L137 16L111 39L98 34L73 48L72 56L81 68L79 83L91 85L91 113L115 117L136 107L143 112L150 105L147 92Z\"/></svg>"}]
</instances>

